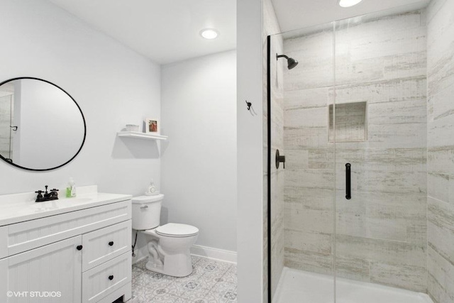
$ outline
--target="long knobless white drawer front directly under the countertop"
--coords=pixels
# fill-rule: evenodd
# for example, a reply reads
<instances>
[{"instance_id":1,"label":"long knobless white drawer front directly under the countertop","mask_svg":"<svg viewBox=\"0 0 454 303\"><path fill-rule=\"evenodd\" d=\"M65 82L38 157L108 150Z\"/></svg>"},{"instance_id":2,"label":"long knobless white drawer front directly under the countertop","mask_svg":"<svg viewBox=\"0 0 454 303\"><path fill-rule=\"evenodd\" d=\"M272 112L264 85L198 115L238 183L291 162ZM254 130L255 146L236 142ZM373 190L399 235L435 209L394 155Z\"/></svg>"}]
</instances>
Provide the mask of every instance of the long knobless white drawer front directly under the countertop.
<instances>
[{"instance_id":1,"label":"long knobless white drawer front directly under the countertop","mask_svg":"<svg viewBox=\"0 0 454 303\"><path fill-rule=\"evenodd\" d=\"M64 202L61 202L64 203ZM21 253L94 229L131 219L131 200L95 206L6 226L7 241L0 241L0 252ZM0 255L0 258L5 255Z\"/></svg>"}]
</instances>

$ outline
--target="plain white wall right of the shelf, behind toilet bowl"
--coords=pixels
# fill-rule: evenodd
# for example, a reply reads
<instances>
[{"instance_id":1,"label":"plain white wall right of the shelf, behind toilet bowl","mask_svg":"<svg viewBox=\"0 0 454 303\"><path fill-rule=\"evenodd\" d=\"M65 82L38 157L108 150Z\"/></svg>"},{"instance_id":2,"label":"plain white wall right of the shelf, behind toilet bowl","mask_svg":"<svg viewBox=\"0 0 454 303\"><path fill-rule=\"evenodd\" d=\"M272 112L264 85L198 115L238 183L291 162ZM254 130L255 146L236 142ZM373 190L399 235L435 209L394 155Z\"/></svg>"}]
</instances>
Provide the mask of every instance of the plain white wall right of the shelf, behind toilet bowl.
<instances>
[{"instance_id":1,"label":"plain white wall right of the shelf, behind toilet bowl","mask_svg":"<svg viewBox=\"0 0 454 303\"><path fill-rule=\"evenodd\" d=\"M236 251L236 51L162 67L161 223L197 226L196 245Z\"/></svg>"}]
</instances>

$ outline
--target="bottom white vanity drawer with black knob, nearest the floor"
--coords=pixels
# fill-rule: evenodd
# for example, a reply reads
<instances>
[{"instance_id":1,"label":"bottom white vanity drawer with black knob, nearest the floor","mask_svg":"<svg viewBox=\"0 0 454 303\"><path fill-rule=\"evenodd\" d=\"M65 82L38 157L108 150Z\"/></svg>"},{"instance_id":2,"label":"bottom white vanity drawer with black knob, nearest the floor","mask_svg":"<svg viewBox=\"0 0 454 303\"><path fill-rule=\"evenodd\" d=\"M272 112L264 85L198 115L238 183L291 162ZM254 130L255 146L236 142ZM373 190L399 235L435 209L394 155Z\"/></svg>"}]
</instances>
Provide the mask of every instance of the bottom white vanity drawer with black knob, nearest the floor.
<instances>
[{"instance_id":1,"label":"bottom white vanity drawer with black knob, nearest the floor","mask_svg":"<svg viewBox=\"0 0 454 303\"><path fill-rule=\"evenodd\" d=\"M131 282L131 251L82 273L82 302L98 302Z\"/></svg>"}]
</instances>

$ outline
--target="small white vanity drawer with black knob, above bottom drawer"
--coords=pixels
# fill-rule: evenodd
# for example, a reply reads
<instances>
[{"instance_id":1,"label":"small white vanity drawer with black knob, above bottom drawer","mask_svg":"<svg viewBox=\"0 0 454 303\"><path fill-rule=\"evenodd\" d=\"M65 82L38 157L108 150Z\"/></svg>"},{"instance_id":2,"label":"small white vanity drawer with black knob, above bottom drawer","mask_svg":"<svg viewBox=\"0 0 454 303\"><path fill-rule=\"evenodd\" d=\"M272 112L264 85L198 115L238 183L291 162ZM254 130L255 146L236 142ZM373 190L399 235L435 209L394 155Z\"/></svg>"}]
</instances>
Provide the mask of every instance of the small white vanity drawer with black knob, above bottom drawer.
<instances>
[{"instance_id":1,"label":"small white vanity drawer with black knob, above bottom drawer","mask_svg":"<svg viewBox=\"0 0 454 303\"><path fill-rule=\"evenodd\" d=\"M82 271L131 250L131 220L82 235Z\"/></svg>"}]
</instances>

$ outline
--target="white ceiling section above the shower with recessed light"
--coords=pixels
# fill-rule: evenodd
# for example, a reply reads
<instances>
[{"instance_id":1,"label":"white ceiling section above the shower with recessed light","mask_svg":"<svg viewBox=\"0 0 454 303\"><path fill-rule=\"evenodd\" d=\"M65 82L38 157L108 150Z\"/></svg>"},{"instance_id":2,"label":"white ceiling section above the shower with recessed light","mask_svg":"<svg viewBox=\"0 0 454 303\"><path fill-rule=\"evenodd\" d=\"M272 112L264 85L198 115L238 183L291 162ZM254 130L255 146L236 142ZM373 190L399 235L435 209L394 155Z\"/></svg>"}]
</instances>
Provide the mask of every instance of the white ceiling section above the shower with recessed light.
<instances>
[{"instance_id":1,"label":"white ceiling section above the shower with recessed light","mask_svg":"<svg viewBox=\"0 0 454 303\"><path fill-rule=\"evenodd\" d=\"M426 6L430 0L362 0L348 9L338 6L338 0L271 0L282 32L307 26L360 16L396 6L419 4Z\"/></svg>"}]
</instances>

